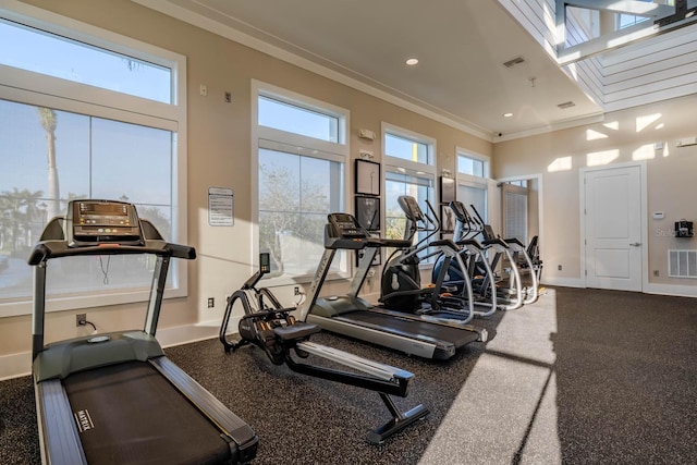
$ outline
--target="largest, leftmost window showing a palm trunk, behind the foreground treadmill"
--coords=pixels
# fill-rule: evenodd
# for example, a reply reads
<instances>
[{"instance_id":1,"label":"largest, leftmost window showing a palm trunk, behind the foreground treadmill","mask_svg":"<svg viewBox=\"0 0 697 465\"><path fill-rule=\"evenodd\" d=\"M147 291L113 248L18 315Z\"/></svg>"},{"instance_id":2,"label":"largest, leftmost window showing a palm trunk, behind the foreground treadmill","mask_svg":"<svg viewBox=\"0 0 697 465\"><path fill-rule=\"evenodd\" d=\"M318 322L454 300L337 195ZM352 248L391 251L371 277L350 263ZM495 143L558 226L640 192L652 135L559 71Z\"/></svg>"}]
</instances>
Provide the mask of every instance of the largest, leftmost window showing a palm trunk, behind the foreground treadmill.
<instances>
[{"instance_id":1,"label":"largest, leftmost window showing a palm trunk, behind the foreground treadmill","mask_svg":"<svg viewBox=\"0 0 697 465\"><path fill-rule=\"evenodd\" d=\"M0 9L0 314L30 311L29 250L74 198L136 204L173 242L185 208L185 59L19 5ZM70 28L68 27L70 26ZM147 256L52 260L49 310L147 299ZM186 293L172 267L167 296Z\"/></svg>"}]
</instances>

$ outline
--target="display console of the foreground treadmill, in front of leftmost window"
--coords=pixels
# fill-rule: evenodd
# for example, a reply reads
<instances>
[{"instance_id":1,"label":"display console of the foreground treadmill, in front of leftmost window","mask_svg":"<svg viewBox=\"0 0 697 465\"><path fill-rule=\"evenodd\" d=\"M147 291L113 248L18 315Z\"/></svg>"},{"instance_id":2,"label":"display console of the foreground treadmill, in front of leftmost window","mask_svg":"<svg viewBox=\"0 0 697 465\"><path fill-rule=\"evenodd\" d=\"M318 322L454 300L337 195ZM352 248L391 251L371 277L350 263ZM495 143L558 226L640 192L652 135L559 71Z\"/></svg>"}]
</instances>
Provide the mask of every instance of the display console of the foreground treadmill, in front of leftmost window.
<instances>
[{"instance_id":1,"label":"display console of the foreground treadmill, in front of leftmost window","mask_svg":"<svg viewBox=\"0 0 697 465\"><path fill-rule=\"evenodd\" d=\"M135 206L115 200L71 200L65 237L69 247L145 245Z\"/></svg>"}]
</instances>

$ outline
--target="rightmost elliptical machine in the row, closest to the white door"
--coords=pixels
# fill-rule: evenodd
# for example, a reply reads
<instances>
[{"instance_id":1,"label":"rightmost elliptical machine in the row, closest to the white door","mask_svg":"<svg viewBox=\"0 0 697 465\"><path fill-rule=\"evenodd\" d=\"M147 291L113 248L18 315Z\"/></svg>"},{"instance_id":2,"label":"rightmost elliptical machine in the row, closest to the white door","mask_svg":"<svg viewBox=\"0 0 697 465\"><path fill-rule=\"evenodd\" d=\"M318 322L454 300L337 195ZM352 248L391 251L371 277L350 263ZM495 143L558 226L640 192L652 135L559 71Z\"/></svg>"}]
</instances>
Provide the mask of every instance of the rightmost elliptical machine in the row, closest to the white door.
<instances>
[{"instance_id":1,"label":"rightmost elliptical machine in the row, closest to the white door","mask_svg":"<svg viewBox=\"0 0 697 465\"><path fill-rule=\"evenodd\" d=\"M501 238L493 232L491 225L487 224L474 205L470 205L472 211L475 213L470 216L473 220L473 230L481 234L484 245L492 247L494 254L490 261L490 268L497 270L501 259L505 258L505 265L508 265L506 271L509 274L508 286L503 283L499 283L497 289L502 294L503 299L508 301L508 306L504 305L503 309L519 308L524 304L533 304L537 302L539 296L539 281L538 272L539 265L536 266L533 259L527 253L525 244L523 244L517 237ZM537 242L537 241L535 241ZM539 259L538 259L539 262ZM528 283L523 283L521 277L521 270L525 270L525 274L529 277ZM485 280L496 279L485 276Z\"/></svg>"}]
</instances>

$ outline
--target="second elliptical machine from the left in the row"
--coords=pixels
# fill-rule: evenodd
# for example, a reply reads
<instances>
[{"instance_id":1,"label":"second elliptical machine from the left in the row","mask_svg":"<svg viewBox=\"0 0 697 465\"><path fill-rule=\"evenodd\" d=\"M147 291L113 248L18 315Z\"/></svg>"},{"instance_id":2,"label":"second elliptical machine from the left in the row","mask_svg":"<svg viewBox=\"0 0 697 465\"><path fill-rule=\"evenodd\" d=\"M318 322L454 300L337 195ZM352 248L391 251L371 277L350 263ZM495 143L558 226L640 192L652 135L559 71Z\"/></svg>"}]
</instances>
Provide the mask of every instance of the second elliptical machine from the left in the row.
<instances>
[{"instance_id":1,"label":"second elliptical machine from the left in the row","mask_svg":"<svg viewBox=\"0 0 697 465\"><path fill-rule=\"evenodd\" d=\"M472 233L469 224L472 218L465 206L457 200L450 203L449 208L455 216L455 230L453 242L460 247L460 255L465 268L464 271L457 261L449 260L441 255L433 266L433 280L444 273L443 284L454 286L455 293L461 293L463 287L469 283L474 295L475 310L477 317L489 317L496 313L498 307L498 292L494 280L485 280L485 276L493 276L487 258L488 250L493 244L484 245ZM477 308L485 308L478 310Z\"/></svg>"}]
</instances>

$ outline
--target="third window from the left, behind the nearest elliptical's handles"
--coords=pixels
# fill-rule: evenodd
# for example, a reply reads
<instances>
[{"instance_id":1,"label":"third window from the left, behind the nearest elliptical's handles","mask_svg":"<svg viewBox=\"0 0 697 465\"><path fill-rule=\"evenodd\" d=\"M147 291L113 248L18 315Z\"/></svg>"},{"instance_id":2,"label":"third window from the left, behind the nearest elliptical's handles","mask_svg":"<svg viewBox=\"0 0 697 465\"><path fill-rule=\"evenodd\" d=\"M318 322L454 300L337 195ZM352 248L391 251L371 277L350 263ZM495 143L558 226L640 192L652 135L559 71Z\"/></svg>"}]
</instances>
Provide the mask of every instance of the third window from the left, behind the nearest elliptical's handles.
<instances>
[{"instance_id":1,"label":"third window from the left, behind the nearest elliptical's handles","mask_svg":"<svg viewBox=\"0 0 697 465\"><path fill-rule=\"evenodd\" d=\"M383 124L384 140L384 219L386 236L403 238L406 218L396 199L401 195L416 198L425 213L431 215L427 200L436 208L436 142L400 127ZM415 242L426 237L418 233Z\"/></svg>"}]
</instances>

